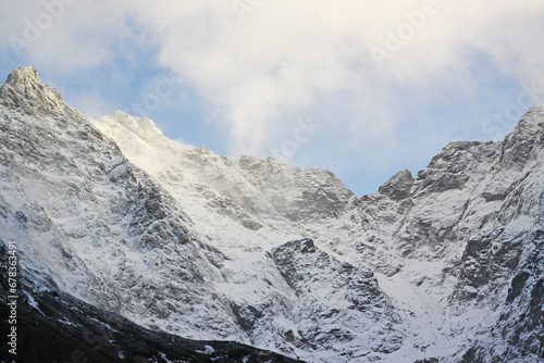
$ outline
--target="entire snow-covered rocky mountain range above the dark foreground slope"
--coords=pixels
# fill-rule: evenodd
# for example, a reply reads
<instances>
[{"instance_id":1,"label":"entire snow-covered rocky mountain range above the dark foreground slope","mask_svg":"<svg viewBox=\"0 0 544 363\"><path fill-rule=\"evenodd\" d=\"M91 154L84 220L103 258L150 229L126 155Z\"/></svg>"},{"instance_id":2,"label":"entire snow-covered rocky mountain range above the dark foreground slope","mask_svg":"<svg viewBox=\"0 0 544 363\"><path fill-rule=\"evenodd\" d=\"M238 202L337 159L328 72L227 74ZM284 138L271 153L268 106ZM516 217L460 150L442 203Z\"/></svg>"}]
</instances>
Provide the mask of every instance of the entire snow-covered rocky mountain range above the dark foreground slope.
<instances>
[{"instance_id":1,"label":"entire snow-covered rocky mountain range above the dark foreground slope","mask_svg":"<svg viewBox=\"0 0 544 363\"><path fill-rule=\"evenodd\" d=\"M64 293L308 362L544 361L544 108L357 198L86 117L32 67L0 87L0 239Z\"/></svg>"}]
</instances>

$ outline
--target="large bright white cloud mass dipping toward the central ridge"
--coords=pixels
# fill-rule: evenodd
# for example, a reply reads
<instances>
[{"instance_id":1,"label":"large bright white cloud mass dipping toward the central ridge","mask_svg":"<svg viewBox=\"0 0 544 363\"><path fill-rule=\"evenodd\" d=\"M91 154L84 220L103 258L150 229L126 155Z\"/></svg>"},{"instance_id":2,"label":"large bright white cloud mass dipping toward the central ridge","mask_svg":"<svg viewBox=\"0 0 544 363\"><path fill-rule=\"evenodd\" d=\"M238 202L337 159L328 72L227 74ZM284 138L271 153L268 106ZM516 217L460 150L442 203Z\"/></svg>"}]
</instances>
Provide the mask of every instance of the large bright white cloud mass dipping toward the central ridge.
<instances>
[{"instance_id":1,"label":"large bright white cloud mass dipping toward the central ridge","mask_svg":"<svg viewBox=\"0 0 544 363\"><path fill-rule=\"evenodd\" d=\"M359 136L387 130L403 117L403 101L391 100L396 88L423 97L429 87L456 84L470 92L479 52L512 77L541 72L543 52L535 45L544 3L507 0L437 1L436 14L379 70L369 49L384 48L387 32L396 33L408 22L406 13L423 3L262 1L240 23L228 1L131 2L157 34L161 64L189 79L221 112L234 153L262 152L323 102L341 105L338 116Z\"/></svg>"}]
</instances>

